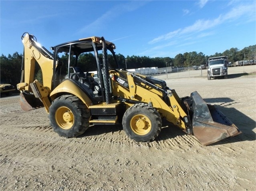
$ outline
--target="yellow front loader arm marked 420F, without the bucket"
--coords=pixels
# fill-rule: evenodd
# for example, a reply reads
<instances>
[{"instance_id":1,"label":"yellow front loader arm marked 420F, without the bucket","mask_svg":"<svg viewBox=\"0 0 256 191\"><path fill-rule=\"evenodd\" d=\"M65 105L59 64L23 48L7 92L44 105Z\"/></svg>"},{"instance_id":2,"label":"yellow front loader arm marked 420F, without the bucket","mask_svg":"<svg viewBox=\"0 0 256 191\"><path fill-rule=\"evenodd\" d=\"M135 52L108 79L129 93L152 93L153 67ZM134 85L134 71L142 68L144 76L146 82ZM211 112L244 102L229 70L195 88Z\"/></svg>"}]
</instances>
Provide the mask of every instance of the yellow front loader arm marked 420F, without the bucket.
<instances>
[{"instance_id":1,"label":"yellow front loader arm marked 420F, without the bucket","mask_svg":"<svg viewBox=\"0 0 256 191\"><path fill-rule=\"evenodd\" d=\"M116 96L125 97L131 100L130 102L149 103L169 122L175 124L188 134L192 133L192 125L186 110L187 108L181 102L175 90L171 90L168 87L163 89L163 87L146 80L145 76L127 71L119 71L119 73L114 72L111 76L113 76L113 90L115 90L114 94ZM122 83L119 83L125 79L127 79L127 86L123 86L121 85ZM157 79L154 80L156 81ZM161 82L165 83L164 81L159 81L159 83ZM168 93L167 89L171 90L171 92ZM129 101L127 102L127 105L132 105L129 104ZM187 122L185 122L184 118L187 118Z\"/></svg>"}]
</instances>

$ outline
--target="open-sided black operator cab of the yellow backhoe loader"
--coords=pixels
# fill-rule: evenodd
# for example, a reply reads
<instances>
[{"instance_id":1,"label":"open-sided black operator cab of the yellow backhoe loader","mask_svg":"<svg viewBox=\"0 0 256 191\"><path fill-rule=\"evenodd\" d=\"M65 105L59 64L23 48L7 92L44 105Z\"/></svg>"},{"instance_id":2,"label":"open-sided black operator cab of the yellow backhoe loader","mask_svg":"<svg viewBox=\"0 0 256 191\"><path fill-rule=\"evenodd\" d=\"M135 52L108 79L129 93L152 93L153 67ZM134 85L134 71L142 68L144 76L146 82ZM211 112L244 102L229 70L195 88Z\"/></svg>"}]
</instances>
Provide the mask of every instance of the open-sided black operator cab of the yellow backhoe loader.
<instances>
[{"instance_id":1,"label":"open-sided black operator cab of the yellow backhoe loader","mask_svg":"<svg viewBox=\"0 0 256 191\"><path fill-rule=\"evenodd\" d=\"M119 68L113 51L115 45L108 41L106 45L108 70ZM56 45L51 49L54 50L53 88L62 81L73 81L95 104L105 102L104 76L109 74L104 74L101 38L89 37ZM93 71L97 71L99 80L95 81Z\"/></svg>"}]
</instances>

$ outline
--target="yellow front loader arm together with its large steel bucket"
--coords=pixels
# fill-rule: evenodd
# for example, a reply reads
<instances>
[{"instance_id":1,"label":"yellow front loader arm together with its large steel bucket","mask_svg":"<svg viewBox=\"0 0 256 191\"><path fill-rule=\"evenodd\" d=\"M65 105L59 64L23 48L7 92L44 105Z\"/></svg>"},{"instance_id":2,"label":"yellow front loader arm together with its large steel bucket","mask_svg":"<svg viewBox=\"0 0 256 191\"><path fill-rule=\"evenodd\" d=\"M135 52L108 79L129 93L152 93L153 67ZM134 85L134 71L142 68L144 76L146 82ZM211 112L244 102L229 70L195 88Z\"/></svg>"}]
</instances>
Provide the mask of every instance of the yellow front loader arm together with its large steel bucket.
<instances>
[{"instance_id":1,"label":"yellow front loader arm together with its large steel bucket","mask_svg":"<svg viewBox=\"0 0 256 191\"><path fill-rule=\"evenodd\" d=\"M127 107L148 104L187 134L194 134L205 146L242 133L218 108L206 104L196 91L179 98L175 90L158 79L128 71L110 71L110 76L114 97Z\"/></svg>"}]
</instances>

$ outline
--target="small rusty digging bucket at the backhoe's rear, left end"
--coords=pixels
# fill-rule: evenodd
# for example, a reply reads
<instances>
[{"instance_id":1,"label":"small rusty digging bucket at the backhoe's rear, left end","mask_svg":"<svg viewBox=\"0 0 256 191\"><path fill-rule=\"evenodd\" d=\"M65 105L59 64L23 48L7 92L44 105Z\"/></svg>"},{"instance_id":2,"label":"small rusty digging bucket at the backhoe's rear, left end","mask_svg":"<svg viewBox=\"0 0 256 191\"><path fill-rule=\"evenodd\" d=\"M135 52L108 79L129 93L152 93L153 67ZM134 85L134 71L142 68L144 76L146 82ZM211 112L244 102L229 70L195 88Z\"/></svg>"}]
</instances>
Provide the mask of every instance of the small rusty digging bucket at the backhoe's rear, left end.
<instances>
[{"instance_id":1,"label":"small rusty digging bucket at the backhoe's rear, left end","mask_svg":"<svg viewBox=\"0 0 256 191\"><path fill-rule=\"evenodd\" d=\"M20 93L20 107L24 111L43 107L40 99L36 98L33 94Z\"/></svg>"}]
</instances>

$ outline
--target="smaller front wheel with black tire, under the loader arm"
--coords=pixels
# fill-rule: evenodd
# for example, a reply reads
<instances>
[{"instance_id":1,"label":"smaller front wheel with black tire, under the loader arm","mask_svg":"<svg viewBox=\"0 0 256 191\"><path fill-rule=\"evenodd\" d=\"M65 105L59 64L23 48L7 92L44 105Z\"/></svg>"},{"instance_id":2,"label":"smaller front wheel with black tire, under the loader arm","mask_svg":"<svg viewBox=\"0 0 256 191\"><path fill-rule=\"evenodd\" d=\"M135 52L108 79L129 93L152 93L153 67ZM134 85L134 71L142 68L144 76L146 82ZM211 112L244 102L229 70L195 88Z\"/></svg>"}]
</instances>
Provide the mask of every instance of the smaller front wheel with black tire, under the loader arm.
<instances>
[{"instance_id":1,"label":"smaller front wheel with black tire, under the loader arm","mask_svg":"<svg viewBox=\"0 0 256 191\"><path fill-rule=\"evenodd\" d=\"M150 142L161 132L162 119L155 108L139 103L126 110L122 124L123 130L131 139Z\"/></svg>"}]
</instances>

